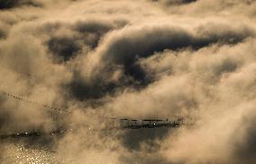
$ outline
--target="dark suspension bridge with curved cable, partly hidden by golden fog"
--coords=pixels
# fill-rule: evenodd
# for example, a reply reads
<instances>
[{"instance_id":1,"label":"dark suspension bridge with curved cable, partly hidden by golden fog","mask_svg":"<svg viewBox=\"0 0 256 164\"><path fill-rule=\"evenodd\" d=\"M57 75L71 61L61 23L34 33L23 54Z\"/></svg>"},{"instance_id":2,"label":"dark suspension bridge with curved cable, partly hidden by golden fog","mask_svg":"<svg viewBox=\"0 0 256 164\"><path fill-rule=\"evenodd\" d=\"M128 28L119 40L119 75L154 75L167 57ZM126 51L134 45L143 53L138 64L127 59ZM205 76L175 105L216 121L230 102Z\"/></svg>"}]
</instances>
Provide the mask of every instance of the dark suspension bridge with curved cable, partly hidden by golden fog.
<instances>
[{"instance_id":1,"label":"dark suspension bridge with curved cable, partly hidden by golden fog","mask_svg":"<svg viewBox=\"0 0 256 164\"><path fill-rule=\"evenodd\" d=\"M6 101L19 101L21 103L27 103L34 106L38 106L41 108L46 108L49 111L56 111L58 113L70 114L67 108L55 108L50 107L49 105L39 103L37 101L33 101L30 99L24 99L23 97L14 95L7 91L0 91L0 100ZM1 109L1 108L0 108ZM56 113L55 113L56 115ZM176 117L176 118L167 118L167 119L133 119L133 118L116 118L116 117L100 117L96 116L100 119L105 121L102 130L123 130L123 129L151 129L151 128L178 128L181 125L184 125L184 118L183 117ZM91 129L89 125L87 128ZM93 128L91 129L93 130ZM44 135L60 135L65 134L70 131L69 128L58 127L56 130L51 132L42 132L41 130L32 130L30 132L18 132L12 134L0 134L0 139L7 139L7 138L23 138L23 137L32 137L32 136L44 136Z\"/></svg>"}]
</instances>

